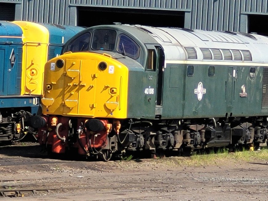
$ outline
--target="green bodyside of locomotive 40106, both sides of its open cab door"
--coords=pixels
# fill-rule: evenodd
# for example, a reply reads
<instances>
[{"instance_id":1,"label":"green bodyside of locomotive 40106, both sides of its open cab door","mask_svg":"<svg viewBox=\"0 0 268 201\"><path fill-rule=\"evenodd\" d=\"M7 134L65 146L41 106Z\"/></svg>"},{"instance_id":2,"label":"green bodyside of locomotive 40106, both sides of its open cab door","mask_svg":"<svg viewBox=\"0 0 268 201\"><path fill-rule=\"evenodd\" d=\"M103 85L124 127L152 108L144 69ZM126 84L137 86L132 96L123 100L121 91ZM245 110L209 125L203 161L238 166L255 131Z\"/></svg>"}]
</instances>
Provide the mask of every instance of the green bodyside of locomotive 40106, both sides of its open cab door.
<instances>
[{"instance_id":1,"label":"green bodyside of locomotive 40106, both sides of its open cab door","mask_svg":"<svg viewBox=\"0 0 268 201\"><path fill-rule=\"evenodd\" d=\"M267 115L262 109L263 67L255 67L250 77L250 67L214 65L214 76L208 76L209 65L193 65L194 74L187 76L186 64L167 64L164 70L162 119L207 118L226 116ZM234 72L235 70L235 72ZM203 84L203 96L198 100L195 90ZM242 85L246 97L240 97ZM157 72L139 69L129 71L128 118L156 116ZM151 88L153 94L146 94ZM149 101L150 100L150 101Z\"/></svg>"}]
</instances>

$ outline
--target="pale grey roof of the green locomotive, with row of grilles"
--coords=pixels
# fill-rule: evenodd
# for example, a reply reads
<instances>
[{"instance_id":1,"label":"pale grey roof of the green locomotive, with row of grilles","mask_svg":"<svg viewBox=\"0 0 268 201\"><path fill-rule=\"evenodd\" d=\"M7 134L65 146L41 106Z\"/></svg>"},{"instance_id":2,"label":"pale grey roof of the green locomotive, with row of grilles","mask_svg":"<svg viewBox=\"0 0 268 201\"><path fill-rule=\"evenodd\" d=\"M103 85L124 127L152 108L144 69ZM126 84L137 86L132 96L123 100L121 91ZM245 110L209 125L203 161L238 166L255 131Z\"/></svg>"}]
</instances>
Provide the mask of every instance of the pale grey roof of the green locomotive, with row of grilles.
<instances>
[{"instance_id":1,"label":"pale grey roof of the green locomotive, with row of grilles","mask_svg":"<svg viewBox=\"0 0 268 201\"><path fill-rule=\"evenodd\" d=\"M93 26L80 34L97 29L121 31L143 47L145 44L160 44L165 60L268 63L268 38L256 34L141 25Z\"/></svg>"}]
</instances>

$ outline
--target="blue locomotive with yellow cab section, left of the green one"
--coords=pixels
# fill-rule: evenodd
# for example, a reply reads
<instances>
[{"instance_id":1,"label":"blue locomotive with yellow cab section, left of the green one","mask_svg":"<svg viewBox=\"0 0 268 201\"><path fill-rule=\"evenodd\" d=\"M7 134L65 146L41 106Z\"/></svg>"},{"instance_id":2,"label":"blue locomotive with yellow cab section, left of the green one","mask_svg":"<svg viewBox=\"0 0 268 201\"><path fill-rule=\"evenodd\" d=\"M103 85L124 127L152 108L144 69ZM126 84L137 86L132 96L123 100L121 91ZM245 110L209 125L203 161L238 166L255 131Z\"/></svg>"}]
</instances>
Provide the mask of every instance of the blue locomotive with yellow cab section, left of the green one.
<instances>
[{"instance_id":1,"label":"blue locomotive with yellow cab section, left of the green one","mask_svg":"<svg viewBox=\"0 0 268 201\"><path fill-rule=\"evenodd\" d=\"M19 140L40 112L45 62L82 27L0 21L0 141Z\"/></svg>"}]
</instances>

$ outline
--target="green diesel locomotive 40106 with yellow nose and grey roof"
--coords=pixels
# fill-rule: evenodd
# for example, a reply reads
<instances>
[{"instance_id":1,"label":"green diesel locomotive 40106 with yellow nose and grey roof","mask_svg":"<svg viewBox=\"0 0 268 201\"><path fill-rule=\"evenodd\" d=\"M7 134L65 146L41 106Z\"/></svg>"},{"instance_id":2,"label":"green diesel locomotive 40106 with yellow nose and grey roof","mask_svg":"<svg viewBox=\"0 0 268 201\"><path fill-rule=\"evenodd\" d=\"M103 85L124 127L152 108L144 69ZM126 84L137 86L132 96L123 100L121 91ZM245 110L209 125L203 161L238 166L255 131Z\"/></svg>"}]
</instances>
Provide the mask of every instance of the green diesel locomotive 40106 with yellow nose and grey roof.
<instances>
[{"instance_id":1,"label":"green diesel locomotive 40106 with yellow nose and grey roof","mask_svg":"<svg viewBox=\"0 0 268 201\"><path fill-rule=\"evenodd\" d=\"M94 26L47 62L49 150L82 155L250 145L267 141L268 38L256 34ZM254 144L254 145L253 145Z\"/></svg>"}]
</instances>

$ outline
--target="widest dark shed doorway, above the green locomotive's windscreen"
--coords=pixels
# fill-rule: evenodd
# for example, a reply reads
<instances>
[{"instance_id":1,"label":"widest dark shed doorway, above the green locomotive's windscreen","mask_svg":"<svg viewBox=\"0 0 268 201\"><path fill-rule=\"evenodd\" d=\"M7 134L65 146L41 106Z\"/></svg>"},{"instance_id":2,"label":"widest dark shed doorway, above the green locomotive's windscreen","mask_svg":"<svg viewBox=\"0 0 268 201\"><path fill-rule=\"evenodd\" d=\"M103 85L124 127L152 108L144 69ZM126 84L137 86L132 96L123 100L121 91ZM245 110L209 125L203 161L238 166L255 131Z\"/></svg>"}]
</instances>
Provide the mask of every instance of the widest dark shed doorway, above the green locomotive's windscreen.
<instances>
[{"instance_id":1,"label":"widest dark shed doorway, above the green locomotive's windscreen","mask_svg":"<svg viewBox=\"0 0 268 201\"><path fill-rule=\"evenodd\" d=\"M78 26L139 24L159 27L184 27L184 12L129 8L78 7Z\"/></svg>"}]
</instances>

